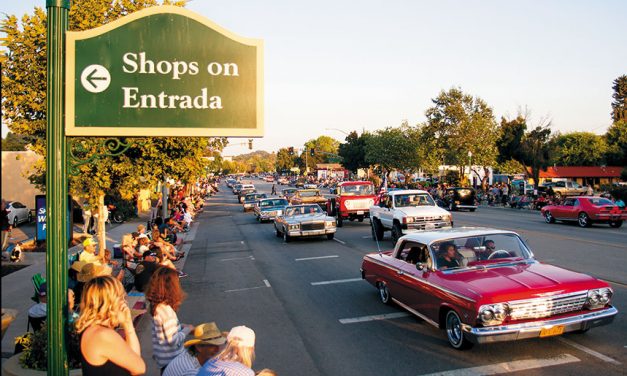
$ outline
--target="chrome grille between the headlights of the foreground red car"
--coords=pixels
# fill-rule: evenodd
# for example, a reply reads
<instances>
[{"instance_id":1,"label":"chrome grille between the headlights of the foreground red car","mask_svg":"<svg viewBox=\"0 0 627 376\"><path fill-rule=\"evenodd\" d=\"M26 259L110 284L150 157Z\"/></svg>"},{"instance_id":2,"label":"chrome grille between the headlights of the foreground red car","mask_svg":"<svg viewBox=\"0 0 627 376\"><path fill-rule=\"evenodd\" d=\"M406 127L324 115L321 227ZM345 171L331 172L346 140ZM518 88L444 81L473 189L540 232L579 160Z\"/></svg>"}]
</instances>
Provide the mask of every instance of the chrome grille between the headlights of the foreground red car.
<instances>
[{"instance_id":1,"label":"chrome grille between the headlights of the foreground red car","mask_svg":"<svg viewBox=\"0 0 627 376\"><path fill-rule=\"evenodd\" d=\"M579 311L588 297L587 291L509 302L512 320L550 317Z\"/></svg>"}]
</instances>

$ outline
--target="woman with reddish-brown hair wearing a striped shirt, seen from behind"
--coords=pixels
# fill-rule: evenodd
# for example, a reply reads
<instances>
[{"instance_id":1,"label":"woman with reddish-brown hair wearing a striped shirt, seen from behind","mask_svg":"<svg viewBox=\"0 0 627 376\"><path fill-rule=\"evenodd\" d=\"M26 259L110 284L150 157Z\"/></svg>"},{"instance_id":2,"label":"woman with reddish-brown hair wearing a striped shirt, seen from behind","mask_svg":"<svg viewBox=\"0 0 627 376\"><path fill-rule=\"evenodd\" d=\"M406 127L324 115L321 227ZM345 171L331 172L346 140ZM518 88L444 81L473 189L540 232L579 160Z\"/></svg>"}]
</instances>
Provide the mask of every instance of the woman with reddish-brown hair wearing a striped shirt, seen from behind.
<instances>
[{"instance_id":1,"label":"woman with reddish-brown hair wearing a striped shirt, seen from behind","mask_svg":"<svg viewBox=\"0 0 627 376\"><path fill-rule=\"evenodd\" d=\"M146 300L152 315L152 352L161 373L179 354L185 351L185 336L194 330L193 325L181 325L176 311L185 299L175 269L159 267L150 278Z\"/></svg>"}]
</instances>

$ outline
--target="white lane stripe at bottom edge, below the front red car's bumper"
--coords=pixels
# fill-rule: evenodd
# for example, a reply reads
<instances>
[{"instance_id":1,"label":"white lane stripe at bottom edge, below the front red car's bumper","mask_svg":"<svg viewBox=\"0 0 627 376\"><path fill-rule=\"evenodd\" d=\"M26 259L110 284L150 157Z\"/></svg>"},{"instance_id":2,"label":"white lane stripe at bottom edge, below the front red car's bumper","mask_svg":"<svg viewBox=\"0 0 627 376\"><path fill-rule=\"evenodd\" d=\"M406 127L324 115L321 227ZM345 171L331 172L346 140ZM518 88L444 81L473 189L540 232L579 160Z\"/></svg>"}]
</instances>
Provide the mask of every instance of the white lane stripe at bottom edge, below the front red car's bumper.
<instances>
[{"instance_id":1,"label":"white lane stripe at bottom edge, below the front red car's bumper","mask_svg":"<svg viewBox=\"0 0 627 376\"><path fill-rule=\"evenodd\" d=\"M581 360L579 360L579 358L576 358L570 354L561 354L547 359L514 360L512 362L496 363L487 366L460 368L451 371L429 373L422 376L498 375L502 373L525 371L529 369L551 367L560 364L576 363L580 361Z\"/></svg>"}]
</instances>

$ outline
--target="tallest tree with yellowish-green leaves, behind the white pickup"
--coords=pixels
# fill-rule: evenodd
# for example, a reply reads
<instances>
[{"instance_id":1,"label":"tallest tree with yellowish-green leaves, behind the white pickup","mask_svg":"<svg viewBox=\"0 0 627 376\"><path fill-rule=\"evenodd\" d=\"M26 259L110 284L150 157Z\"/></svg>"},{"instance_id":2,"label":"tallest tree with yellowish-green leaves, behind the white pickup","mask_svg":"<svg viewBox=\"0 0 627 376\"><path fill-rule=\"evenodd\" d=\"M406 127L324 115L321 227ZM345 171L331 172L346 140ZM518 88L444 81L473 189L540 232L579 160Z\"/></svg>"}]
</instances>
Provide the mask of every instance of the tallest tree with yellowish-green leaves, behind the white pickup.
<instances>
[{"instance_id":1,"label":"tallest tree with yellowish-green leaves, behind the white pickup","mask_svg":"<svg viewBox=\"0 0 627 376\"><path fill-rule=\"evenodd\" d=\"M435 145L440 157L459 171L479 166L485 172L496 163L496 140L500 131L492 108L479 97L464 94L459 88L442 91L432 99L433 107L425 112L427 123L422 129ZM472 156L471 156L472 155ZM472 167L471 167L472 168ZM483 185L486 184L485 174Z\"/></svg>"}]
</instances>

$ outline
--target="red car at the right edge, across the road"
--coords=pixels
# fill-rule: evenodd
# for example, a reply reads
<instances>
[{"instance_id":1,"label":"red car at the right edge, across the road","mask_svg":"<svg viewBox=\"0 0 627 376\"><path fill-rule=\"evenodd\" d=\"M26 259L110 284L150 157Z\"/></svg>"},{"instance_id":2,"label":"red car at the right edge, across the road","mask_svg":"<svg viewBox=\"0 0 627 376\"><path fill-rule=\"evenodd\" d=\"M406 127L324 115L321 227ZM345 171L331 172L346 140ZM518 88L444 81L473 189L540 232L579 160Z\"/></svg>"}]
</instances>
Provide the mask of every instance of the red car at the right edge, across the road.
<instances>
[{"instance_id":1,"label":"red car at the right edge, across the road","mask_svg":"<svg viewBox=\"0 0 627 376\"><path fill-rule=\"evenodd\" d=\"M546 223L577 221L581 227L592 223L609 223L618 228L627 220L627 209L621 209L603 197L579 196L564 199L561 205L548 205L541 209Z\"/></svg>"}]
</instances>

